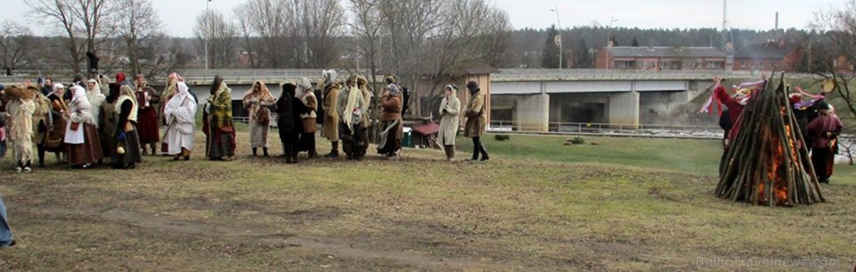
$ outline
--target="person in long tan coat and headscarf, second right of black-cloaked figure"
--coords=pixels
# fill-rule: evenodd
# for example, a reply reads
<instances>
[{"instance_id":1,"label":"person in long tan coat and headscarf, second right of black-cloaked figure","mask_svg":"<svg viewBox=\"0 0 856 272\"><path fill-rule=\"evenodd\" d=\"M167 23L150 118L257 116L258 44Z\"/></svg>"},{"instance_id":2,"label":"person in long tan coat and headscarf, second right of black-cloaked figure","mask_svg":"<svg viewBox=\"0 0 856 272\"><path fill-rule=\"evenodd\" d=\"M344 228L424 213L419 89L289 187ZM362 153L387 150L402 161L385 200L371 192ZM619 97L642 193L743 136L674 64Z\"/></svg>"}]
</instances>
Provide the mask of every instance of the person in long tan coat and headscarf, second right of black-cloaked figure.
<instances>
[{"instance_id":1,"label":"person in long tan coat and headscarf, second right of black-cloaked figure","mask_svg":"<svg viewBox=\"0 0 856 272\"><path fill-rule=\"evenodd\" d=\"M326 157L339 157L339 110L336 109L336 102L339 101L342 86L336 83L336 70L324 70L321 74L324 75L324 123L321 124L321 137L330 140L330 153Z\"/></svg>"}]
</instances>

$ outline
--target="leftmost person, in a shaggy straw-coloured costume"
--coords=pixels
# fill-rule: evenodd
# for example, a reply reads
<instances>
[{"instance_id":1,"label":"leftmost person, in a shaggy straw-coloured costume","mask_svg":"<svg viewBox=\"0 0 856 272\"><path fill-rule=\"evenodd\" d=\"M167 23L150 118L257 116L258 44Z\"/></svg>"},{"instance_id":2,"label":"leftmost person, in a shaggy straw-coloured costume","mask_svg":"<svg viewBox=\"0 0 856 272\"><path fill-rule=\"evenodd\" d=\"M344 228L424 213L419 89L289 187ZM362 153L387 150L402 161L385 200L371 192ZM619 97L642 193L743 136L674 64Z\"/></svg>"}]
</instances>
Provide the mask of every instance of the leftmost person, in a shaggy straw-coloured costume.
<instances>
[{"instance_id":1,"label":"leftmost person, in a shaggy straw-coloured costume","mask_svg":"<svg viewBox=\"0 0 856 272\"><path fill-rule=\"evenodd\" d=\"M35 93L27 90L26 86L10 86L4 96L9 98L9 104L6 106L9 119L6 121L6 127L15 158L15 172L30 173L33 171Z\"/></svg>"}]
</instances>

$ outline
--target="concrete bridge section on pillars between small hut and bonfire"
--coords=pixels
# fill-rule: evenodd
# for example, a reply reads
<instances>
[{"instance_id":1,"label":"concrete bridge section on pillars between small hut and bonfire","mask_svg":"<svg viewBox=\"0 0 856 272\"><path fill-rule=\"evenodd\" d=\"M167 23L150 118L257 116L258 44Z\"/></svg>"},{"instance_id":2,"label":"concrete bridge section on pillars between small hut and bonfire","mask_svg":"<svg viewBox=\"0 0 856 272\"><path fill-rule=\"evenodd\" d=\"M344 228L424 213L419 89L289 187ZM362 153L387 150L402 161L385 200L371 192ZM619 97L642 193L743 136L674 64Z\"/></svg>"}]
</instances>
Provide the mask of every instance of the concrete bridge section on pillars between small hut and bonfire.
<instances>
[{"instance_id":1,"label":"concrete bridge section on pillars between small hut and bonfire","mask_svg":"<svg viewBox=\"0 0 856 272\"><path fill-rule=\"evenodd\" d=\"M550 122L639 126L642 115L664 115L698 97L714 76L752 77L725 71L502 70L491 75L492 117L527 131L547 131Z\"/></svg>"}]
</instances>

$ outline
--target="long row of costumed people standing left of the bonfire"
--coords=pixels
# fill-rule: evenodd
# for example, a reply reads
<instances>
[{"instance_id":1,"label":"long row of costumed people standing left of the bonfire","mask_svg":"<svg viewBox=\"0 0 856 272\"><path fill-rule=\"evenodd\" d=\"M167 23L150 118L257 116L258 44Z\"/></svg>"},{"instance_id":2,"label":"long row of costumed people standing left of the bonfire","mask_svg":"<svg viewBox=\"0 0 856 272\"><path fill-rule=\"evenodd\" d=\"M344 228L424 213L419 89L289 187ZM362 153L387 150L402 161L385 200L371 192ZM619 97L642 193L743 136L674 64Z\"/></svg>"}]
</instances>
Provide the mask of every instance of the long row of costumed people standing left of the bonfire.
<instances>
[{"instance_id":1,"label":"long row of costumed people standing left of the bonfire","mask_svg":"<svg viewBox=\"0 0 856 272\"><path fill-rule=\"evenodd\" d=\"M270 156L268 139L275 122L287 163L297 163L298 154L304 151L309 158L319 157L315 135L317 120L322 119L320 135L331 144L325 157L339 157L340 143L348 159L366 157L368 128L372 125L367 114L372 104L368 80L354 74L339 81L335 70L324 70L322 75L320 101L306 78L283 83L279 98L274 98L262 81L247 91L241 103L249 113L253 156L259 156L259 150L260 156ZM394 159L401 156L403 88L394 76L386 77L384 83L376 101L381 109L377 154ZM189 160L193 152L199 101L179 74L169 74L159 93L146 85L144 76L137 75L131 81L122 73L116 74L112 83L104 76L91 80L77 77L66 87L48 78L38 84L0 86L2 89L0 155L7 148L12 151L18 172L33 170L33 145L39 167L45 166L45 153L50 152L56 154L57 163L80 169L104 163L104 158L116 169L134 169L142 157L158 155L159 142L162 155L176 161ZM467 118L464 135L473 139L471 160L488 160L480 140L486 127L484 92L474 81L467 84L467 90L469 101L464 107L457 98L457 86L445 86L438 141L447 159L453 159L458 116L463 110ZM202 105L205 157L229 161L234 159L237 147L231 89L216 76L210 95ZM323 116L318 118L321 109ZM274 112L276 120L271 120Z\"/></svg>"}]
</instances>

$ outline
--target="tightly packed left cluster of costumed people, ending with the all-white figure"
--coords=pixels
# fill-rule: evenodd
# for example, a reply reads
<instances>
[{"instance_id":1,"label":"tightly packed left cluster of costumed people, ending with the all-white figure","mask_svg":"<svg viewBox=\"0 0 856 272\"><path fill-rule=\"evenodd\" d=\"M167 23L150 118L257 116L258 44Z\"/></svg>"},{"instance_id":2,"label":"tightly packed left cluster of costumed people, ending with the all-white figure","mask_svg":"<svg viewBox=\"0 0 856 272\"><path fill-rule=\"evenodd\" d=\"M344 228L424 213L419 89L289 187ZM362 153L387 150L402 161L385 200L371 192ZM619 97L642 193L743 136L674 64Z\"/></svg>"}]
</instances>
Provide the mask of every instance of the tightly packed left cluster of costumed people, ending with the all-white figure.
<instances>
[{"instance_id":1,"label":"tightly packed left cluster of costumed people, ending with the all-white figure","mask_svg":"<svg viewBox=\"0 0 856 272\"><path fill-rule=\"evenodd\" d=\"M0 90L7 121L3 130L9 132L17 172L33 171L35 157L44 167L49 152L57 163L77 169L90 169L105 158L116 169L134 169L143 155L157 153L159 113L167 127L163 151L187 160L193 150L196 99L177 74L169 75L163 93L146 86L142 75L130 81L122 73L113 83L103 75L78 76L68 87L47 78Z\"/></svg>"}]
</instances>

